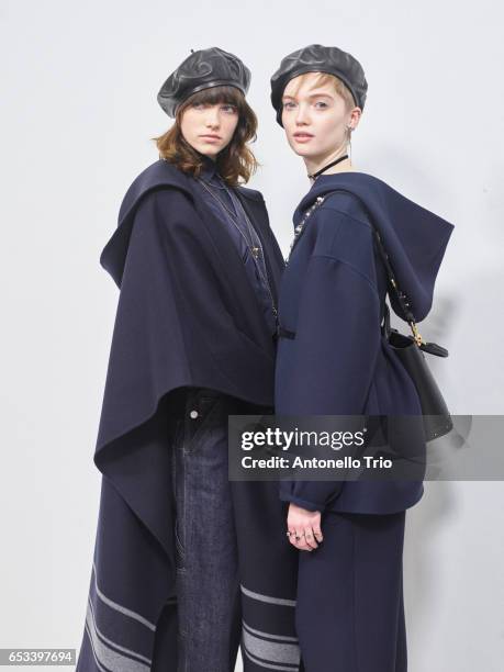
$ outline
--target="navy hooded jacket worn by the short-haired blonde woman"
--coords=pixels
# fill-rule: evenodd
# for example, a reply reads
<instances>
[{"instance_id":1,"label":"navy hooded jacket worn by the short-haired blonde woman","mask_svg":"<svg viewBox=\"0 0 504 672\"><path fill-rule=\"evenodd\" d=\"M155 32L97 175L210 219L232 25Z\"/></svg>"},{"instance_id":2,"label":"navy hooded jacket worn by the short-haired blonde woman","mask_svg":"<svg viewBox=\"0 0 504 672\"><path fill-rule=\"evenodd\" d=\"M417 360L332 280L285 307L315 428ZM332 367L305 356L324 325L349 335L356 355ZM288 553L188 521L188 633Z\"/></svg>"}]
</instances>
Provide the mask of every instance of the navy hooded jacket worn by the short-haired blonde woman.
<instances>
[{"instance_id":1,"label":"navy hooded jacket worn by the short-haired blonde woman","mask_svg":"<svg viewBox=\"0 0 504 672\"><path fill-rule=\"evenodd\" d=\"M394 450L425 467L418 395L380 331L388 277L371 220L416 322L430 311L453 225L379 178L350 171L318 177L294 212L294 226L318 197L324 201L307 219L281 281L279 323L295 337L279 341L276 413L389 416L387 422L394 423L389 444L393 432ZM390 301L404 318L394 295ZM408 334L407 324L403 326L401 331ZM422 497L425 468L419 480L416 475L415 480L284 480L280 496L310 511L392 514Z\"/></svg>"}]
</instances>

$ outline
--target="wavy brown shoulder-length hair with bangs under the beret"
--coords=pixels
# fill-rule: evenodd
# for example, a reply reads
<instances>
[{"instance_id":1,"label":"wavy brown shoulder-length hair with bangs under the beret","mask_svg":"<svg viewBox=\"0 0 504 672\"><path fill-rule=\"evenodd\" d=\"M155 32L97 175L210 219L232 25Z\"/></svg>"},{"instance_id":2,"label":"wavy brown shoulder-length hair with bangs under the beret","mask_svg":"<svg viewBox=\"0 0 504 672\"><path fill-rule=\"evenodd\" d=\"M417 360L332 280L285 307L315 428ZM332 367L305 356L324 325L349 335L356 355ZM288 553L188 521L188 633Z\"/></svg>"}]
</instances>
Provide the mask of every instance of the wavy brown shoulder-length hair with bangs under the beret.
<instances>
[{"instance_id":1,"label":"wavy brown shoulder-length hair with bangs under the beret","mask_svg":"<svg viewBox=\"0 0 504 672\"><path fill-rule=\"evenodd\" d=\"M194 103L215 105L224 103L234 105L238 112L238 124L228 145L216 156L216 167L224 180L236 186L240 181L248 182L257 170L257 160L247 143L256 139L257 116L245 100L245 96L236 87L211 87L193 93L178 109L175 124L159 137L153 137L164 158L177 168L198 177L203 167L201 155L186 141L180 128L180 122L187 108Z\"/></svg>"}]
</instances>

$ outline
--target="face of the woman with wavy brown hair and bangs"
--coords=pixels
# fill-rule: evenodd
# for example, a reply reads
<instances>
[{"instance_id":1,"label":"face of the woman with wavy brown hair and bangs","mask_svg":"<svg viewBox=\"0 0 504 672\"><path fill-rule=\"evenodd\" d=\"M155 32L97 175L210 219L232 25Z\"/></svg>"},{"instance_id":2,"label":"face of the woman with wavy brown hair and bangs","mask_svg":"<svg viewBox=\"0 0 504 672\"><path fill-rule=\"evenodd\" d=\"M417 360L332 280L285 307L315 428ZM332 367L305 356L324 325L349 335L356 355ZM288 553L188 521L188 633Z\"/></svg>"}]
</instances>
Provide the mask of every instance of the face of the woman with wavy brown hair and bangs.
<instances>
[{"instance_id":1,"label":"face of the woman with wavy brown hair and bangs","mask_svg":"<svg viewBox=\"0 0 504 672\"><path fill-rule=\"evenodd\" d=\"M182 114L184 139L212 159L229 143L238 124L238 110L228 103L192 103Z\"/></svg>"}]
</instances>

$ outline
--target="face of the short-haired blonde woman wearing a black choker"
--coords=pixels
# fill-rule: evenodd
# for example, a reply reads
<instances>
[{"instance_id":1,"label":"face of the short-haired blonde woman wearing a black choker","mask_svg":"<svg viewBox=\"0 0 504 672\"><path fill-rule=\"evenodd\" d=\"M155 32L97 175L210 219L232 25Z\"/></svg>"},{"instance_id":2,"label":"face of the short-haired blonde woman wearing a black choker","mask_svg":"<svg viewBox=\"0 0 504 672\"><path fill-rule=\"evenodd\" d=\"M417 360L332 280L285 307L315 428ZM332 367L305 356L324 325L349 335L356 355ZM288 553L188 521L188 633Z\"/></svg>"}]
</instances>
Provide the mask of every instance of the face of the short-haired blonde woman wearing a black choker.
<instances>
[{"instance_id":1,"label":"face of the short-haired blonde woman wearing a black choker","mask_svg":"<svg viewBox=\"0 0 504 672\"><path fill-rule=\"evenodd\" d=\"M291 79L282 97L282 123L289 145L311 161L323 160L338 147L345 147L351 111L331 82L315 86L318 72ZM354 124L355 125L355 124Z\"/></svg>"}]
</instances>

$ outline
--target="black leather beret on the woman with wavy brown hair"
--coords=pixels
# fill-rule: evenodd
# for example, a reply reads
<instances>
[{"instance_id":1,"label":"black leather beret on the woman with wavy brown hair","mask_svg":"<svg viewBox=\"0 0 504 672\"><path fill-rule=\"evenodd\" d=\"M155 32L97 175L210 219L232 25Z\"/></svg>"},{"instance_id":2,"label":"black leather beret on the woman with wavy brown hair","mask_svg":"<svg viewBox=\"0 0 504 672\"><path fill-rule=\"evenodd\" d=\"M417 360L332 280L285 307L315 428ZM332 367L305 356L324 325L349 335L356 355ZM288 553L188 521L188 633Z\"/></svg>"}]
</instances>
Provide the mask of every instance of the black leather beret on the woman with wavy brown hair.
<instances>
[{"instance_id":1,"label":"black leather beret on the woman with wavy brown hair","mask_svg":"<svg viewBox=\"0 0 504 672\"><path fill-rule=\"evenodd\" d=\"M157 94L157 101L175 116L178 105L197 91L211 87L236 87L244 94L250 86L250 70L233 54L219 47L192 52L171 72Z\"/></svg>"}]
</instances>

